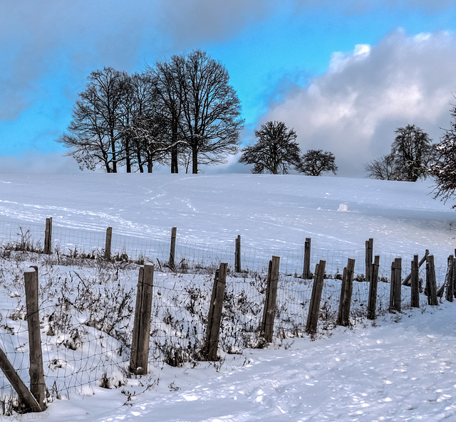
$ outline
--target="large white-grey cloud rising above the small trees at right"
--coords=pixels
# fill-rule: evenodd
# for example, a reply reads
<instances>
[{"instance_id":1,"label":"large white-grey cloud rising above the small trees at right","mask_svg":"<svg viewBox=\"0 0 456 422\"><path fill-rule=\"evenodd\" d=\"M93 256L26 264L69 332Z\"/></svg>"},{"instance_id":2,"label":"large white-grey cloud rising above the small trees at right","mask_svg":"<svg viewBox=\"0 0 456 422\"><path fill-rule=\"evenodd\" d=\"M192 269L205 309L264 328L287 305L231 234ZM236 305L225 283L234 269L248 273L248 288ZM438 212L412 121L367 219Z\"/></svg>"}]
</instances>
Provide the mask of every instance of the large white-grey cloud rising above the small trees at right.
<instances>
[{"instance_id":1,"label":"large white-grey cloud rising above the small trees at right","mask_svg":"<svg viewBox=\"0 0 456 422\"><path fill-rule=\"evenodd\" d=\"M294 127L301 149L328 149L341 176L389 152L396 127L415 124L436 141L456 89L456 36L390 33L374 48L335 53L328 73L294 87L261 119Z\"/></svg>"}]
</instances>

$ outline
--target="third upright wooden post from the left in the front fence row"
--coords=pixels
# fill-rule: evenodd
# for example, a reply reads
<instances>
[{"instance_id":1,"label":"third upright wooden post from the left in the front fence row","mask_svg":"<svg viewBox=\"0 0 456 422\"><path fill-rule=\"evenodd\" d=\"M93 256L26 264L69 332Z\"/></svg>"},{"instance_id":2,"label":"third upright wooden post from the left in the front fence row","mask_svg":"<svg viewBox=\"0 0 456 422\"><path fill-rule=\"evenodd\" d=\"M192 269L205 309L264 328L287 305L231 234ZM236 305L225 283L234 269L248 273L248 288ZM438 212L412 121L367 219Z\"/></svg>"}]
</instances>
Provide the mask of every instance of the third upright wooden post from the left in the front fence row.
<instances>
[{"instance_id":1,"label":"third upright wooden post from the left in the front fence row","mask_svg":"<svg viewBox=\"0 0 456 422\"><path fill-rule=\"evenodd\" d=\"M223 297L227 283L227 263L221 263L215 273L214 287L212 288L209 315L207 316L206 345L204 354L207 360L216 361L219 348L220 323L222 322Z\"/></svg>"}]
</instances>

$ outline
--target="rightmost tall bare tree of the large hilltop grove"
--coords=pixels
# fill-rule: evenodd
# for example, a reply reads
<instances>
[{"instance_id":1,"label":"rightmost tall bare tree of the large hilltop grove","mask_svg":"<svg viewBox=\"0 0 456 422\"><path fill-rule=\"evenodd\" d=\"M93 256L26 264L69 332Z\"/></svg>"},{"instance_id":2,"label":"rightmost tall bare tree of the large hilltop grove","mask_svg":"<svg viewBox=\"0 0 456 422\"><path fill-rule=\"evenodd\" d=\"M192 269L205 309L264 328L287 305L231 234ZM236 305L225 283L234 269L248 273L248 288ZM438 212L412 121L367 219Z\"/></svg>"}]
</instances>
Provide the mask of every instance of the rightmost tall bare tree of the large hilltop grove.
<instances>
[{"instance_id":1,"label":"rightmost tall bare tree of the large hilltop grove","mask_svg":"<svg viewBox=\"0 0 456 422\"><path fill-rule=\"evenodd\" d=\"M180 87L180 132L192 150L192 173L197 173L201 162L224 162L239 150L241 104L226 68L205 51L173 56L172 63Z\"/></svg>"}]
</instances>

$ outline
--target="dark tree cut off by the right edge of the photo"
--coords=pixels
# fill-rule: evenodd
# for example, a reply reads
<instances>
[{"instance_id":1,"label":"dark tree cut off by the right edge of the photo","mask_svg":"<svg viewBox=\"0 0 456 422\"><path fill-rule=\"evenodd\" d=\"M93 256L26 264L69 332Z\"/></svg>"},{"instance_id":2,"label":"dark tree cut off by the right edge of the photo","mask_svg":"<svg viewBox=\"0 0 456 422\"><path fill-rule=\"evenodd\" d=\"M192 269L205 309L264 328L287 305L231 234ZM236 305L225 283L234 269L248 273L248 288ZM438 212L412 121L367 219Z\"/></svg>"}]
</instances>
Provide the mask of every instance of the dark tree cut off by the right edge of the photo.
<instances>
[{"instance_id":1,"label":"dark tree cut off by the right edge of the photo","mask_svg":"<svg viewBox=\"0 0 456 422\"><path fill-rule=\"evenodd\" d=\"M435 198L447 201L456 192L456 106L451 111L450 129L444 131L437 144L435 162L430 164L429 174L434 177ZM456 206L453 206L455 208Z\"/></svg>"}]
</instances>

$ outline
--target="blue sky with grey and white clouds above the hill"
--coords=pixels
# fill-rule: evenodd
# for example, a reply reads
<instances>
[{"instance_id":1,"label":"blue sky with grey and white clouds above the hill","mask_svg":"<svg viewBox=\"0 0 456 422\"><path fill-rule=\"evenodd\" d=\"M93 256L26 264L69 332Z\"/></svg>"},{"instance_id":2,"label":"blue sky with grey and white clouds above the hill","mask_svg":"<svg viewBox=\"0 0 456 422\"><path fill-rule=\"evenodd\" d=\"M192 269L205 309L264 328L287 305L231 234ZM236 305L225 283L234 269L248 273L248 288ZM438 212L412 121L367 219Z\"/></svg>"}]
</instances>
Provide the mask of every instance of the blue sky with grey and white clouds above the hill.
<instances>
[{"instance_id":1,"label":"blue sky with grey and white clouds above the hill","mask_svg":"<svg viewBox=\"0 0 456 422\"><path fill-rule=\"evenodd\" d=\"M438 142L455 102L450 0L21 0L0 18L0 172L78 172L55 141L90 72L194 48L227 68L243 146L281 120L302 152L333 152L338 176L366 176L397 127ZM249 172L238 158L204 171Z\"/></svg>"}]
</instances>

